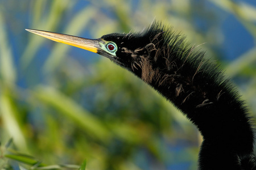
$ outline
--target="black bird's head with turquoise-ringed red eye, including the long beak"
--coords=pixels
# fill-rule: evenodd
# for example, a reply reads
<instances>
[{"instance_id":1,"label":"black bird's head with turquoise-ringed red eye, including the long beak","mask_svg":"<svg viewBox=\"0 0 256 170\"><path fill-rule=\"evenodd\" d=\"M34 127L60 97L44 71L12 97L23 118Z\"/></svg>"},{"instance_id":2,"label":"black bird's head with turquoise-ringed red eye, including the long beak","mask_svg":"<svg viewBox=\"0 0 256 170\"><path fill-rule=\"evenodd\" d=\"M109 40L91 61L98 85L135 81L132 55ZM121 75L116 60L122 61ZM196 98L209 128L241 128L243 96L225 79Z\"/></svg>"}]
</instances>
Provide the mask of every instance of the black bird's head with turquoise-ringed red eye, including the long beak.
<instances>
[{"instance_id":1,"label":"black bird's head with turquoise-ringed red eye, including the long beak","mask_svg":"<svg viewBox=\"0 0 256 170\"><path fill-rule=\"evenodd\" d=\"M160 49L158 46L163 49L163 43L158 38L164 32L153 26L139 33L111 33L100 39L85 39L36 29L26 30L53 41L98 53L132 71L143 80L148 79L148 75L152 73L151 61L155 60L155 54Z\"/></svg>"}]
</instances>

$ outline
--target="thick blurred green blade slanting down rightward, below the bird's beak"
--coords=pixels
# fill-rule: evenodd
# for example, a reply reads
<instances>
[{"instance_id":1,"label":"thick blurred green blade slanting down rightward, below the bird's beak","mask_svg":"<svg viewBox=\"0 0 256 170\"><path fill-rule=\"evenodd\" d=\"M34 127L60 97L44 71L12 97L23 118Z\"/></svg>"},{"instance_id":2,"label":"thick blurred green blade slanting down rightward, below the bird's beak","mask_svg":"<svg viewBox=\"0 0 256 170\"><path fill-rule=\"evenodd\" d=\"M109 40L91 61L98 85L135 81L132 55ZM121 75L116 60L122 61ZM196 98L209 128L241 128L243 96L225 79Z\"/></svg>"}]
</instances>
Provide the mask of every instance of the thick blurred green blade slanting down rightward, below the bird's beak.
<instances>
[{"instance_id":1,"label":"thick blurred green blade slanting down rightward, below the bird's beak","mask_svg":"<svg viewBox=\"0 0 256 170\"><path fill-rule=\"evenodd\" d=\"M102 142L109 141L110 133L104 125L93 114L83 109L68 96L52 87L43 86L38 87L34 94L39 100L56 108L59 113L71 118L77 125L87 131L88 135L98 138Z\"/></svg>"}]
</instances>

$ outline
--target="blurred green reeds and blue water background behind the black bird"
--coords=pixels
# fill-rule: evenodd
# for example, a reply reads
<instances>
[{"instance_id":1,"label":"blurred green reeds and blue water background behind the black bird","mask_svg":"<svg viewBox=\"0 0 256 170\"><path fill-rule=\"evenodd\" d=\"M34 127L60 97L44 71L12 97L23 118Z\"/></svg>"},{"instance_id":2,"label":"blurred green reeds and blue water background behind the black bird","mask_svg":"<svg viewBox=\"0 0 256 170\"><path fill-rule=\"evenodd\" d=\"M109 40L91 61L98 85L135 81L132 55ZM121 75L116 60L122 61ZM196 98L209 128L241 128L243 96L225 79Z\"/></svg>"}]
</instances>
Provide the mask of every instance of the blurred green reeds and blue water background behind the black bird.
<instances>
[{"instance_id":1,"label":"blurred green reeds and blue water background behind the black bird","mask_svg":"<svg viewBox=\"0 0 256 170\"><path fill-rule=\"evenodd\" d=\"M255 116L256 1L0 0L1 169L17 168L10 138L48 165L196 169L200 134L166 99L107 58L25 31L98 38L153 20L201 44Z\"/></svg>"}]
</instances>

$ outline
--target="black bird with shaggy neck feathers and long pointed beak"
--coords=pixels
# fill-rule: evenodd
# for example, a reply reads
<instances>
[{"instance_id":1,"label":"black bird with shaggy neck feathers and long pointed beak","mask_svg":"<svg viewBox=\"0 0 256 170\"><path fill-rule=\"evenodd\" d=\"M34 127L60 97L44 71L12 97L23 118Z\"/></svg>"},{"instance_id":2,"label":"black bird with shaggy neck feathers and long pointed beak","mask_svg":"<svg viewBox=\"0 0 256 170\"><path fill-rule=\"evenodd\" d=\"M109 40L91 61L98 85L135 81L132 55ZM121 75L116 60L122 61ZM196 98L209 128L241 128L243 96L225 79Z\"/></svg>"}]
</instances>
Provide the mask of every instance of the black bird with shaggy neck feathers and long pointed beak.
<instances>
[{"instance_id":1,"label":"black bird with shaggy neck feathers and long pointed beak","mask_svg":"<svg viewBox=\"0 0 256 170\"><path fill-rule=\"evenodd\" d=\"M203 135L199 169L256 169L251 117L244 101L205 53L154 22L142 32L84 39L27 29L109 58L171 101Z\"/></svg>"}]
</instances>

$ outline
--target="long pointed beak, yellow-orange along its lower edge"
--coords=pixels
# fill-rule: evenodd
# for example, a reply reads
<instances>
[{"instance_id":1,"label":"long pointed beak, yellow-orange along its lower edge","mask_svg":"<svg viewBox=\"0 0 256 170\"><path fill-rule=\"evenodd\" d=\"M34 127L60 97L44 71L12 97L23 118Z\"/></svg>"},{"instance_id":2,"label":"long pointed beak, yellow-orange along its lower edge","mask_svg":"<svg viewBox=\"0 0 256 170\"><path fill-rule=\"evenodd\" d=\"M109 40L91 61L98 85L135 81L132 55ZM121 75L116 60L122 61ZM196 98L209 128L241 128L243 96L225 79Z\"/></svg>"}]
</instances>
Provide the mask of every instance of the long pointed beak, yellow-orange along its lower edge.
<instances>
[{"instance_id":1,"label":"long pointed beak, yellow-orange along its lower edge","mask_svg":"<svg viewBox=\"0 0 256 170\"><path fill-rule=\"evenodd\" d=\"M29 32L35 33L36 35L46 37L47 39L61 42L64 44L76 46L81 49L88 50L93 53L98 53L99 50L101 50L101 39L84 39L81 37L71 36L71 35L65 35L61 33L54 33L54 32L48 32L48 31L40 31L36 29L26 29Z\"/></svg>"}]
</instances>

